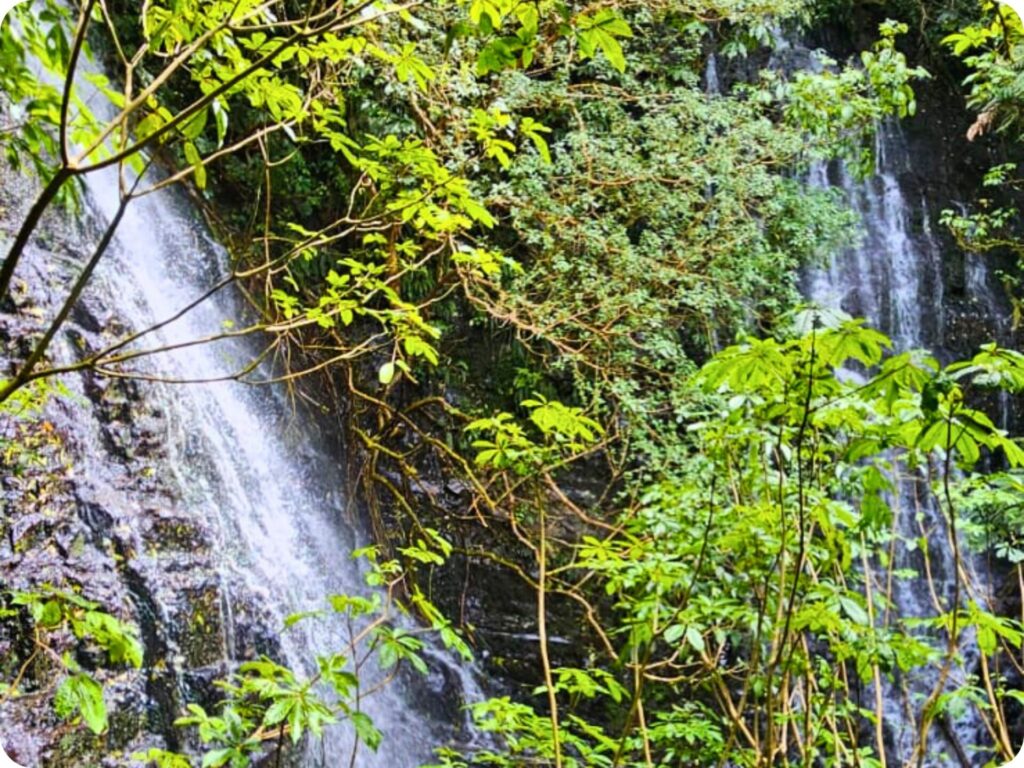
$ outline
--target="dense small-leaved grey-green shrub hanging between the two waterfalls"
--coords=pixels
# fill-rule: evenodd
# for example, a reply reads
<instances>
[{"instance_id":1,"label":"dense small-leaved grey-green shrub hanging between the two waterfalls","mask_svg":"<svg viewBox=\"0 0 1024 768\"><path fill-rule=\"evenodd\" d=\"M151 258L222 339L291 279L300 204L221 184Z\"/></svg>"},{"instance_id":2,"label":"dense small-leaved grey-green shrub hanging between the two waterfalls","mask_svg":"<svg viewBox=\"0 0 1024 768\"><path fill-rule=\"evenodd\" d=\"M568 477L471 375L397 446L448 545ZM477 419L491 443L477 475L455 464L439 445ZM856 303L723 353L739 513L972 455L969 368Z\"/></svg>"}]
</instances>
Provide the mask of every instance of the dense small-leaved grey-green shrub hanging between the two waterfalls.
<instances>
[{"instance_id":1,"label":"dense small-leaved grey-green shrub hanging between the two waterfalls","mask_svg":"<svg viewBox=\"0 0 1024 768\"><path fill-rule=\"evenodd\" d=\"M739 5L728 9L737 25ZM623 408L638 445L660 442L644 414L675 407L694 362L741 328L770 325L797 300L800 265L849 236L837 197L792 171L859 163L877 122L904 114L924 75L895 50L901 28L890 24L867 69L766 71L709 93L699 50L714 41L688 10L627 13L623 74L587 65L501 78L508 112L550 129L551 162L510 156L492 182L499 224L485 236L514 244L505 253L520 268L461 270L473 304L516 333L563 399L574 389L580 402Z\"/></svg>"}]
</instances>

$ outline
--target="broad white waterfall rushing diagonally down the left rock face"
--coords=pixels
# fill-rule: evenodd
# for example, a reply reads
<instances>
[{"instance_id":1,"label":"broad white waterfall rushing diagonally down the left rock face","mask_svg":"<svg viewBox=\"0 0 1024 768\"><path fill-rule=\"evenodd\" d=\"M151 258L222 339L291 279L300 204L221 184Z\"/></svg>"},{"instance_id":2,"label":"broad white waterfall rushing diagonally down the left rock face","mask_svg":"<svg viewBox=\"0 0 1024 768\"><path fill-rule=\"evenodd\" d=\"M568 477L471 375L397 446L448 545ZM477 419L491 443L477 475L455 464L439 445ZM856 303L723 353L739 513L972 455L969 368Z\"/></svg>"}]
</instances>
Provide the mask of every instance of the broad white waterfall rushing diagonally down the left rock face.
<instances>
[{"instance_id":1,"label":"broad white waterfall rushing diagonally down the left rock face","mask_svg":"<svg viewBox=\"0 0 1024 768\"><path fill-rule=\"evenodd\" d=\"M114 169L86 177L85 228L106 225L118 208L118 189ZM129 331L141 331L176 316L227 273L226 254L183 196L162 190L130 203L85 300L127 323ZM165 417L160 440L167 461L162 469L176 492L174 503L216 540L222 672L241 660L231 615L237 602L258 606L273 631L294 612L324 607L330 595L367 591L349 557L361 536L346 520L340 462L318 445L314 425L289 407L280 388L231 380L259 353L256 341L232 337L188 344L221 335L244 316L241 297L227 287L129 347L172 348L136 360L133 368L148 379L140 382L142 398L159 402ZM63 354L70 354L67 344ZM203 383L181 383L185 381ZM88 431L83 424L82 432ZM101 441L95 435L78 437L95 450L77 472L102 476ZM138 567L158 571L159 580L161 564L146 565L145 559L138 557ZM245 599L237 601L234 593L245 593ZM155 607L160 614L161 606ZM287 663L308 673L316 653L344 651L347 640L341 618L299 623L282 635L280 651ZM301 764L396 768L428 760L432 746L462 727L461 722L444 722L444 714L459 720L451 713L463 695L473 695L473 681L445 669L443 652L427 648L426 655L432 668L427 678L417 682L399 675L358 702L384 733L377 754L364 745L353 753L356 742L346 724L310 746ZM173 649L172 656L172 666L182 663ZM179 680L182 672L176 670ZM369 682L379 679L378 673Z\"/></svg>"}]
</instances>

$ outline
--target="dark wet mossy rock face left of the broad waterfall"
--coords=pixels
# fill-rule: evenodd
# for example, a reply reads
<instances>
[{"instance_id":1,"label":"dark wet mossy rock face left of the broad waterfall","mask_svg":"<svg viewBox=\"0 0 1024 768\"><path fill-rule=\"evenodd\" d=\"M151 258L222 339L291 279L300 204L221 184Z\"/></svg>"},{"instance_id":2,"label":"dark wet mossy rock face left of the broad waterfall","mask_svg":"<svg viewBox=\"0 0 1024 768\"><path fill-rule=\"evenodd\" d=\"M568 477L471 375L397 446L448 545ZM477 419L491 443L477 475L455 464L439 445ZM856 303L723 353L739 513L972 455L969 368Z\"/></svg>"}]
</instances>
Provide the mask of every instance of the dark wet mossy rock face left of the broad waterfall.
<instances>
[{"instance_id":1,"label":"dark wet mossy rock face left of the broad waterfall","mask_svg":"<svg viewBox=\"0 0 1024 768\"><path fill-rule=\"evenodd\" d=\"M50 240L53 250L34 248L19 266L24 284L0 308L0 378L31 351L74 273L74 249ZM86 298L52 352L71 359L123 331ZM47 653L33 656L29 613L0 611L0 688L17 680L0 702L0 723L8 753L24 765L123 766L140 749L195 746L173 726L184 702L212 707L219 697L213 682L229 672L228 658L278 647L257 602L218 577L211 530L164 479L168 429L159 403L133 381L92 372L62 383L67 392L54 391L39 413L0 413L0 608L10 606L12 591L77 593L138 627L144 658L139 670L115 669L70 632L47 635L54 651L103 684L110 728L96 736L54 712L62 673Z\"/></svg>"}]
</instances>

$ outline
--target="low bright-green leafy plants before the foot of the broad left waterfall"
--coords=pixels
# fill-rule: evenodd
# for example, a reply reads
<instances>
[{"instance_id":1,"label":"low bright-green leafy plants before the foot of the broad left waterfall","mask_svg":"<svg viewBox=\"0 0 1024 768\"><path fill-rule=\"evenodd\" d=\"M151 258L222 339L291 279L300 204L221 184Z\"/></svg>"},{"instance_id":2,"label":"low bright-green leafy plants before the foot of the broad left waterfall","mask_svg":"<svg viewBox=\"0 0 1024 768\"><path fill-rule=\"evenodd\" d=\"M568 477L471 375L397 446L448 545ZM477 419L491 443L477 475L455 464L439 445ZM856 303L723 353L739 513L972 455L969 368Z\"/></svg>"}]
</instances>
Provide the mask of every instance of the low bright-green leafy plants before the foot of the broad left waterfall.
<instances>
[{"instance_id":1,"label":"low bright-green leafy plants before the foot of the broad left waterfall","mask_svg":"<svg viewBox=\"0 0 1024 768\"><path fill-rule=\"evenodd\" d=\"M428 529L424 536L401 554L418 562L443 562L452 552L451 545L435 530ZM376 686L367 689L360 676L370 663L390 674L399 665L427 674L421 653L424 631L395 626L396 615L406 611L393 597L406 578L401 565L379 560L374 548L354 555L366 558L367 583L374 591L369 596L332 595L324 609L288 616L284 629L326 631L305 625L330 621L338 626L340 622L348 630L344 648L310 659L315 673L308 676L266 656L243 663L230 678L218 681L222 698L216 713L189 703L187 714L175 721L178 727L195 729L203 744L203 768L245 768L264 759L268 751L280 756L286 737L298 744L304 738L323 738L326 729L342 724L351 728L357 743L373 751L380 746L384 734L360 709ZM416 592L410 602L446 647L471 659L465 642L429 600ZM136 753L133 759L157 768L190 765L186 756L156 749Z\"/></svg>"}]
</instances>

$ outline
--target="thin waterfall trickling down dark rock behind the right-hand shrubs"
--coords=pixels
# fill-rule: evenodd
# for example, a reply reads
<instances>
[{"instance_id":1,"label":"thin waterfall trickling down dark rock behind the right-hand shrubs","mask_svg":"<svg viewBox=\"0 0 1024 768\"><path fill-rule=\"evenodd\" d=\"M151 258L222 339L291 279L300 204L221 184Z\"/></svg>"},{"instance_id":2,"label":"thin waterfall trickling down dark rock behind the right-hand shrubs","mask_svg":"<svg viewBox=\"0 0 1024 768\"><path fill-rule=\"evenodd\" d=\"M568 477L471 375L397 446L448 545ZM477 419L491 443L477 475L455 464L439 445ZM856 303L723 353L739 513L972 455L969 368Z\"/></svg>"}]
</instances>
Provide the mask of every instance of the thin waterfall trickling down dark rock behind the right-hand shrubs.
<instances>
[{"instance_id":1,"label":"thin waterfall trickling down dark rock behind the right-hand shrubs","mask_svg":"<svg viewBox=\"0 0 1024 768\"><path fill-rule=\"evenodd\" d=\"M898 126L890 123L879 128L876 170L869 178L856 179L842 164L819 164L812 169L811 184L843 189L848 204L860 216L861 240L831 263L809 270L804 293L820 306L865 317L869 325L889 334L897 351L942 349L946 344L942 254L926 201L921 200L915 207L905 191L903 178L911 173L905 138ZM987 288L987 270L979 259L969 257L966 283L973 301L997 312L994 294ZM952 601L956 574L948 524L925 473L902 468L893 479L897 490L890 502L897 541L890 567L918 574L912 580L895 580L894 612L897 621L931 617L940 605L941 610L948 610ZM924 548L921 542L925 542ZM969 555L965 555L962 568L971 598L982 604L989 602L990 586L977 578ZM930 574L927 584L925 573ZM962 607L967 599L961 595ZM928 636L941 647L945 641L934 632ZM961 644L964 658L954 665L947 691L962 687L978 663L973 633L965 633ZM898 764L909 759L918 741L920 709L935 684L934 675L929 673L926 678L911 673L886 686L887 739ZM933 724L924 765L946 766L965 760L982 765L988 760L988 741L977 714L968 708L955 722ZM972 751L975 746L977 752Z\"/></svg>"}]
</instances>

